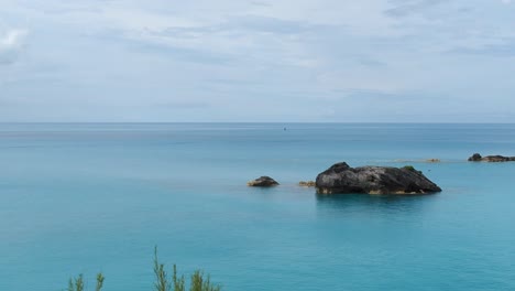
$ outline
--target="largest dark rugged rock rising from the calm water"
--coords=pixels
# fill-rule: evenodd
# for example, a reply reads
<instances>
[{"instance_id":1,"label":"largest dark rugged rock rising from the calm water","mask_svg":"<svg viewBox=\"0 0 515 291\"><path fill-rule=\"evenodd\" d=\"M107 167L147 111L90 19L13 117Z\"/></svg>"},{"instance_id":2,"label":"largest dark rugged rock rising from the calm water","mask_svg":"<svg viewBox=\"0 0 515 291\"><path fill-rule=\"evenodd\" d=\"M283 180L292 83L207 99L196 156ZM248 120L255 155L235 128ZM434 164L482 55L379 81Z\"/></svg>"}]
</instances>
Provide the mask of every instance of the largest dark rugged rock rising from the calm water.
<instances>
[{"instance_id":1,"label":"largest dark rugged rock rising from the calm water","mask_svg":"<svg viewBox=\"0 0 515 291\"><path fill-rule=\"evenodd\" d=\"M350 168L337 163L318 174L317 193L426 194L441 188L413 166Z\"/></svg>"}]
</instances>

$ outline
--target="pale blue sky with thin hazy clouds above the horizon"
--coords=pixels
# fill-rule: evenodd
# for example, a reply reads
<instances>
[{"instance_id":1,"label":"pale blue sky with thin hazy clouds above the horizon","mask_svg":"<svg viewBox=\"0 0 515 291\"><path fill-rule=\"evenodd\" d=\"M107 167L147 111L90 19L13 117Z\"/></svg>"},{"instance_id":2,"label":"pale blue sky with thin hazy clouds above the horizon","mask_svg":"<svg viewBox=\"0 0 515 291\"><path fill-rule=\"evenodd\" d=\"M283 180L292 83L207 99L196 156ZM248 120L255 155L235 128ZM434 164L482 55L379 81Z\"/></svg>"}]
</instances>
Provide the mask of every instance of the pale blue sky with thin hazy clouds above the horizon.
<instances>
[{"instance_id":1,"label":"pale blue sky with thin hazy clouds above the horizon","mask_svg":"<svg viewBox=\"0 0 515 291\"><path fill-rule=\"evenodd\" d=\"M0 0L0 122L515 122L511 0Z\"/></svg>"}]
</instances>

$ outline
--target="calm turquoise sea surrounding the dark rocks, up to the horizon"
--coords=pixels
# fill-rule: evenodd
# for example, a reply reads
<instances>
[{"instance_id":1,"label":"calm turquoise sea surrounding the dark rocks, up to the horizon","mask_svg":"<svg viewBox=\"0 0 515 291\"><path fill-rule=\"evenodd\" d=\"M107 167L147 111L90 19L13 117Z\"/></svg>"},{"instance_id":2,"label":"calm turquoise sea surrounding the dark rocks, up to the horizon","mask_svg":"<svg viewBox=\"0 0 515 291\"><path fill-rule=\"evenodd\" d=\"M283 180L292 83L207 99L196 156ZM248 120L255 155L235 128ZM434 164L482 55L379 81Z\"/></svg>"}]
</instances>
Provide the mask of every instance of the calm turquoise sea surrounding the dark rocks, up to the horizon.
<instances>
[{"instance_id":1,"label":"calm turquoise sea surrounding the dark rocks, up to the horizon","mask_svg":"<svg viewBox=\"0 0 515 291\"><path fill-rule=\"evenodd\" d=\"M155 245L228 291L515 290L515 163L474 152L515 155L515 125L0 125L0 290L152 290ZM443 192L296 186L339 161Z\"/></svg>"}]
</instances>

